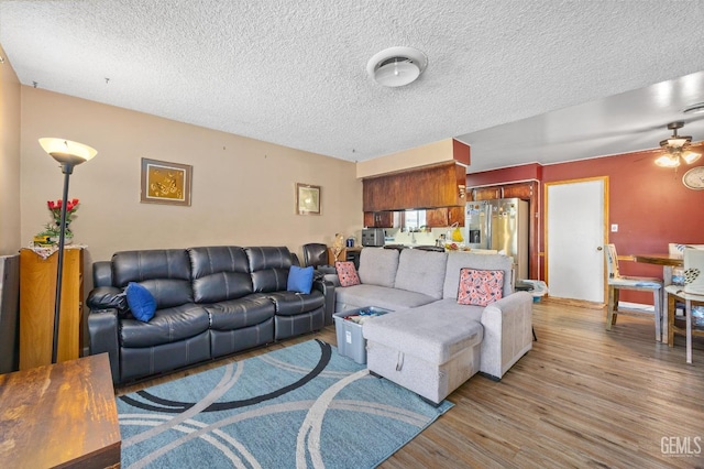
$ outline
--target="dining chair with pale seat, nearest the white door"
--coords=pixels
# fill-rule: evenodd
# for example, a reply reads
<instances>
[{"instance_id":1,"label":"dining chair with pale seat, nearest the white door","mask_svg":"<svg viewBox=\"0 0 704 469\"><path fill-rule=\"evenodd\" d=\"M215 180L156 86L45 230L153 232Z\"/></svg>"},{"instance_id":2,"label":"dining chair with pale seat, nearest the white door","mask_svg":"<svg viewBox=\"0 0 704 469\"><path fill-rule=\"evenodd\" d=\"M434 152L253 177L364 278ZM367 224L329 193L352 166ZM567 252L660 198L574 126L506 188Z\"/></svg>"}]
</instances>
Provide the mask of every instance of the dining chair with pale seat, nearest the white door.
<instances>
[{"instance_id":1,"label":"dining chair with pale seat, nearest the white door","mask_svg":"<svg viewBox=\"0 0 704 469\"><path fill-rule=\"evenodd\" d=\"M608 303L606 305L606 330L612 330L612 326L616 324L619 313L628 313L627 308L618 307L618 296L622 290L650 291L654 306L656 320L656 340L662 340L662 279L645 277L645 276L625 276L618 270L618 255L615 244L606 244L604 247L606 257L607 284L608 284ZM635 312L635 310L630 310Z\"/></svg>"}]
</instances>

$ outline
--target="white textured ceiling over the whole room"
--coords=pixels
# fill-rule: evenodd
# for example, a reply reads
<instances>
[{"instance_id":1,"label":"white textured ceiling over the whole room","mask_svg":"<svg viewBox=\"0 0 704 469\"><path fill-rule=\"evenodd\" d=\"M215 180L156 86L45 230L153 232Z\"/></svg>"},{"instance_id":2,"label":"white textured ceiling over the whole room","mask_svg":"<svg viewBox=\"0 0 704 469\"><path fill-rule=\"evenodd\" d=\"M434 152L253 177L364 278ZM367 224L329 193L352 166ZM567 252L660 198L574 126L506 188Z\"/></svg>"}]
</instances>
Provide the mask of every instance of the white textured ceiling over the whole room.
<instances>
[{"instance_id":1,"label":"white textured ceiling over the whole room","mask_svg":"<svg viewBox=\"0 0 704 469\"><path fill-rule=\"evenodd\" d=\"M24 85L350 161L452 137L474 172L657 146L704 101L703 20L702 1L2 0L0 44ZM428 68L384 88L366 63L396 45Z\"/></svg>"}]
</instances>

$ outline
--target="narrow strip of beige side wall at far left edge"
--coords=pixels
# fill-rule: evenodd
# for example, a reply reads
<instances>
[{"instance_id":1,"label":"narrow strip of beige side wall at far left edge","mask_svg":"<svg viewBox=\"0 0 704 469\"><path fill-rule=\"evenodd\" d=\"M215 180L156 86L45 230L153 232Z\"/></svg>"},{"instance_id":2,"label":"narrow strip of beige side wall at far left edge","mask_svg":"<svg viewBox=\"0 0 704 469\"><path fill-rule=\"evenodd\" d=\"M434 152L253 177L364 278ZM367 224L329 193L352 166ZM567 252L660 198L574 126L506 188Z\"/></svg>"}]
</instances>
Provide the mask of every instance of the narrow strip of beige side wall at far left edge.
<instances>
[{"instance_id":1,"label":"narrow strip of beige side wall at far left edge","mask_svg":"<svg viewBox=\"0 0 704 469\"><path fill-rule=\"evenodd\" d=\"M0 46L0 255L16 254L20 237L20 81Z\"/></svg>"}]
</instances>

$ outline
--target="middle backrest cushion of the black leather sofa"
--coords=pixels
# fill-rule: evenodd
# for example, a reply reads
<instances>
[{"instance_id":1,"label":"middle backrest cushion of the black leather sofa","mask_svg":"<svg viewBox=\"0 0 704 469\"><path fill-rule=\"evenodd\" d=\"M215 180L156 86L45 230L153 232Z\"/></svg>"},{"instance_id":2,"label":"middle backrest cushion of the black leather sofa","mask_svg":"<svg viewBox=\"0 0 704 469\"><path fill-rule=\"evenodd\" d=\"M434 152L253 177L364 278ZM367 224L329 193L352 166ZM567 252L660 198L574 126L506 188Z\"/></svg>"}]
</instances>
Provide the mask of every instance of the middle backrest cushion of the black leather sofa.
<instances>
[{"instance_id":1,"label":"middle backrest cushion of the black leather sofa","mask_svg":"<svg viewBox=\"0 0 704 469\"><path fill-rule=\"evenodd\" d=\"M235 246L190 248L188 255L196 303L235 299L253 292L250 260L244 249Z\"/></svg>"}]
</instances>

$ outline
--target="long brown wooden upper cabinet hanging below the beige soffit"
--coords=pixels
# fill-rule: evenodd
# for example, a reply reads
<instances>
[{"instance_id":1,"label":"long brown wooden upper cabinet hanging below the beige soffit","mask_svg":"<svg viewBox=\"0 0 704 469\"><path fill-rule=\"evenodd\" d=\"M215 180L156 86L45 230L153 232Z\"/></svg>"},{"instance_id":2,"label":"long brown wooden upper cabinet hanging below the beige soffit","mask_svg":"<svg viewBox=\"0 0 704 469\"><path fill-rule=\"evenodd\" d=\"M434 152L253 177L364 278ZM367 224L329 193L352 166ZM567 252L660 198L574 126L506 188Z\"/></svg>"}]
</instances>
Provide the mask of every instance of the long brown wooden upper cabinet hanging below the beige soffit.
<instances>
[{"instance_id":1,"label":"long brown wooden upper cabinet hanging below the beige soffit","mask_svg":"<svg viewBox=\"0 0 704 469\"><path fill-rule=\"evenodd\" d=\"M466 170L457 163L370 177L363 184L363 210L405 210L464 205Z\"/></svg>"}]
</instances>

